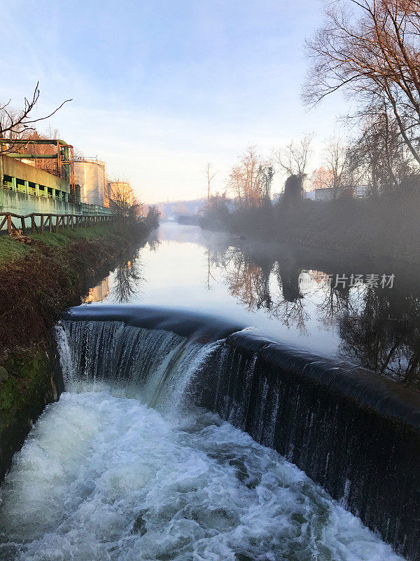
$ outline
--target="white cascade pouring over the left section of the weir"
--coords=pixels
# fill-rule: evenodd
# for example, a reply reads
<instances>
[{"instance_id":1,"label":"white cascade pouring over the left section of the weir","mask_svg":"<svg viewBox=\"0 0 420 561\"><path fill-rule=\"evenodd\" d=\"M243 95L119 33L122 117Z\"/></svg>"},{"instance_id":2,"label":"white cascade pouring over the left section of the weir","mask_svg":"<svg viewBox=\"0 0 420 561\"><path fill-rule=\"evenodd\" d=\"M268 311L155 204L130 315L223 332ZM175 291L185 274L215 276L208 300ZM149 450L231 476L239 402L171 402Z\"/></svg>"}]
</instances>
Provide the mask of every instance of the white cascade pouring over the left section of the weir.
<instances>
[{"instance_id":1,"label":"white cascade pouring over the left section of the weir","mask_svg":"<svg viewBox=\"0 0 420 561\"><path fill-rule=\"evenodd\" d=\"M179 407L195 374L222 344L119 321L62 320L56 339L66 389L112 382L162 411Z\"/></svg>"}]
</instances>

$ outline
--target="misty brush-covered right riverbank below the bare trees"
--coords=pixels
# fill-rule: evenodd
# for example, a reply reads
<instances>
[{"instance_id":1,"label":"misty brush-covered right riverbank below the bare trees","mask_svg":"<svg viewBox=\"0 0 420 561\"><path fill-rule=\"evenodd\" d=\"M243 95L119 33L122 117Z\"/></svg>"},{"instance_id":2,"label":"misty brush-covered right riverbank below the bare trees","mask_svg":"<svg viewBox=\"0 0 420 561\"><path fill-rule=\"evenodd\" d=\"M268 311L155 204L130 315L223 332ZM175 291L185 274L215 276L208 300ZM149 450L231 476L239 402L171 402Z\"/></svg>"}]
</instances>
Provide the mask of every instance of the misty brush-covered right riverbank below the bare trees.
<instances>
[{"instance_id":1,"label":"misty brush-covered right riverbank below the bare trees","mask_svg":"<svg viewBox=\"0 0 420 561\"><path fill-rule=\"evenodd\" d=\"M220 204L201 220L204 229L228 231L270 243L322 248L331 255L398 259L419 264L420 196L300 201L290 207L235 210Z\"/></svg>"}]
</instances>

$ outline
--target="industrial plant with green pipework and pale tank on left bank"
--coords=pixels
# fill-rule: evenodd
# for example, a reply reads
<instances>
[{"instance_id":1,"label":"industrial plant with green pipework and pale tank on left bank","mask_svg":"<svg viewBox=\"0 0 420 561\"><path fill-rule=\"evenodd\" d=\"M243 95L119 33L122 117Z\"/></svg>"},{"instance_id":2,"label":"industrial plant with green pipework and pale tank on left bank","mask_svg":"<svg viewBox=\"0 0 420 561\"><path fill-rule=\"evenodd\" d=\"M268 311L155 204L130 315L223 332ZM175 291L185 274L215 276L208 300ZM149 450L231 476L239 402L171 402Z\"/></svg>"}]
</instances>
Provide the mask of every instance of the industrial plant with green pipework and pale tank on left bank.
<instances>
[{"instance_id":1,"label":"industrial plant with green pipework and pale tank on left bank","mask_svg":"<svg viewBox=\"0 0 420 561\"><path fill-rule=\"evenodd\" d=\"M0 212L109 215L105 165L63 140L0 139Z\"/></svg>"}]
</instances>

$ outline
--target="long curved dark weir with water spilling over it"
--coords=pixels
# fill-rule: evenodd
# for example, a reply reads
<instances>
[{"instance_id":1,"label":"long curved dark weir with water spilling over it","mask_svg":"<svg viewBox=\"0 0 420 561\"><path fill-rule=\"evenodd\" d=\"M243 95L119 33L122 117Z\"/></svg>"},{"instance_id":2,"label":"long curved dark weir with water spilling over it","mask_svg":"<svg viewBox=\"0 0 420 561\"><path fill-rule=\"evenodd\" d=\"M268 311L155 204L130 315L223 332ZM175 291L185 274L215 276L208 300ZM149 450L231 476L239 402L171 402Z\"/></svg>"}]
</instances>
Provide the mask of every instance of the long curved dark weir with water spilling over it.
<instances>
[{"instance_id":1,"label":"long curved dark weir with water spilling over it","mask_svg":"<svg viewBox=\"0 0 420 561\"><path fill-rule=\"evenodd\" d=\"M66 384L112 379L158 409L206 407L419 559L418 394L243 327L150 306L80 306L62 315L57 338Z\"/></svg>"}]
</instances>

